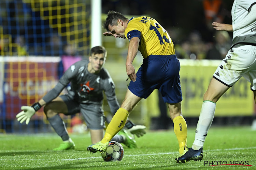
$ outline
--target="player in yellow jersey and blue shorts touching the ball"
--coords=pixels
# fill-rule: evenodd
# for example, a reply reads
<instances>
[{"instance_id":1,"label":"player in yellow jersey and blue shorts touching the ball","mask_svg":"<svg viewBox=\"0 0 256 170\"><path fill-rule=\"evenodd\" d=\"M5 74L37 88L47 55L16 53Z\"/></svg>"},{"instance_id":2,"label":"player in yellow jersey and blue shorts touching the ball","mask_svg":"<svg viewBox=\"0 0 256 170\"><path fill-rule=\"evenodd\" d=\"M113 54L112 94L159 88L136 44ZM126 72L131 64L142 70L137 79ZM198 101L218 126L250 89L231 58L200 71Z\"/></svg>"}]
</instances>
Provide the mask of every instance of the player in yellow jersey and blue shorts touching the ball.
<instances>
[{"instance_id":1,"label":"player in yellow jersey and blue shorts touching the ball","mask_svg":"<svg viewBox=\"0 0 256 170\"><path fill-rule=\"evenodd\" d=\"M187 124L181 112L180 62L175 55L174 45L168 33L150 17L126 18L123 14L109 11L103 25L108 32L105 36L128 38L130 41L126 59L126 72L131 82L125 99L111 120L104 138L90 145L90 152L105 152L109 141L125 125L134 106L146 99L154 89L159 89L168 104L174 123L174 133L179 142L180 155L188 151ZM135 73L132 62L138 51L143 55L143 64Z\"/></svg>"}]
</instances>

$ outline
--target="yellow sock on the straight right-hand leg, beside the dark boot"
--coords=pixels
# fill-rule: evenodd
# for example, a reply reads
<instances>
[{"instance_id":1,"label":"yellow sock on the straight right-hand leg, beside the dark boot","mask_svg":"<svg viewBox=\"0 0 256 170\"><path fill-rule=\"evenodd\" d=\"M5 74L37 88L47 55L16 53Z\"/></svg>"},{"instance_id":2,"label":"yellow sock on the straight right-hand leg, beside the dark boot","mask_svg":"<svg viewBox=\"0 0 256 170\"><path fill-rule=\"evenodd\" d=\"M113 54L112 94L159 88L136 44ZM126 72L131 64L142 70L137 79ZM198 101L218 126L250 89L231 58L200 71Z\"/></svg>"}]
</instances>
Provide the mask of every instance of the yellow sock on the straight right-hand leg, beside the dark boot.
<instances>
[{"instance_id":1,"label":"yellow sock on the straight right-hand leg, beside the dark boot","mask_svg":"<svg viewBox=\"0 0 256 170\"><path fill-rule=\"evenodd\" d=\"M177 116L172 121L173 130L178 139L179 147L187 147L187 123L185 119L183 118L183 116ZM179 151L183 153L184 149L181 149Z\"/></svg>"}]
</instances>

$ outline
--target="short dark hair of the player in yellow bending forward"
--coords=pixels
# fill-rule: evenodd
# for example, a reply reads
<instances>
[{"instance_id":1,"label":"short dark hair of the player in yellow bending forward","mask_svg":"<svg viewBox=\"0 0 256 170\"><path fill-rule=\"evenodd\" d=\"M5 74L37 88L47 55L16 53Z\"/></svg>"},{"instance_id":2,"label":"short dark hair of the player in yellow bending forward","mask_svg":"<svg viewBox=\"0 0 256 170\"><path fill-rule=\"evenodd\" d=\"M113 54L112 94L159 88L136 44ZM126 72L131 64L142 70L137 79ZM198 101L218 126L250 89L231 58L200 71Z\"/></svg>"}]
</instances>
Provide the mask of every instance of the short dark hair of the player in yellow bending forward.
<instances>
[{"instance_id":1,"label":"short dark hair of the player in yellow bending forward","mask_svg":"<svg viewBox=\"0 0 256 170\"><path fill-rule=\"evenodd\" d=\"M117 20L121 19L125 21L126 18L123 14L116 12L116 11L109 11L107 14L106 21L103 23L103 28L106 29L109 32L109 25L110 26L117 26Z\"/></svg>"}]
</instances>

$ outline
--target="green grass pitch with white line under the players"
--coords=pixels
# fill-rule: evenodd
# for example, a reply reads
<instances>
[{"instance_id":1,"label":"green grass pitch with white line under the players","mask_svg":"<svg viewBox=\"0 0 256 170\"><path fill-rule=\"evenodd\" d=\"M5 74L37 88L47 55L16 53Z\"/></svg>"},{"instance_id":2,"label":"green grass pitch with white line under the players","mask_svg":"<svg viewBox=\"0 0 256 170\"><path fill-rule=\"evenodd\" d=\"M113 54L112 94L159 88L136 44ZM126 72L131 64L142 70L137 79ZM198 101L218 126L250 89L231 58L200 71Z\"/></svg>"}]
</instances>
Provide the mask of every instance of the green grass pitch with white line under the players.
<instances>
[{"instance_id":1,"label":"green grass pitch with white line under the players","mask_svg":"<svg viewBox=\"0 0 256 170\"><path fill-rule=\"evenodd\" d=\"M195 129L188 127L188 147L194 141ZM120 162L104 162L100 153L88 152L86 148L90 145L89 134L70 136L75 142L75 150L52 151L61 142L55 133L1 134L0 169L256 169L256 131L252 131L250 127L212 127L205 141L203 160L185 164L174 162L178 154L178 143L172 130L148 131L143 137L136 138L137 149L129 149L123 145L124 157ZM242 161L252 166L209 166L205 161L217 161L218 164L219 161L226 161L225 164L230 164L230 161L239 164Z\"/></svg>"}]
</instances>

